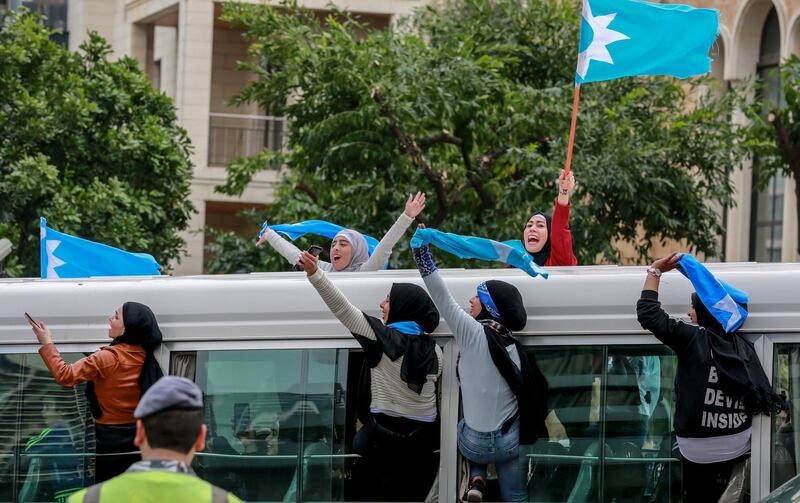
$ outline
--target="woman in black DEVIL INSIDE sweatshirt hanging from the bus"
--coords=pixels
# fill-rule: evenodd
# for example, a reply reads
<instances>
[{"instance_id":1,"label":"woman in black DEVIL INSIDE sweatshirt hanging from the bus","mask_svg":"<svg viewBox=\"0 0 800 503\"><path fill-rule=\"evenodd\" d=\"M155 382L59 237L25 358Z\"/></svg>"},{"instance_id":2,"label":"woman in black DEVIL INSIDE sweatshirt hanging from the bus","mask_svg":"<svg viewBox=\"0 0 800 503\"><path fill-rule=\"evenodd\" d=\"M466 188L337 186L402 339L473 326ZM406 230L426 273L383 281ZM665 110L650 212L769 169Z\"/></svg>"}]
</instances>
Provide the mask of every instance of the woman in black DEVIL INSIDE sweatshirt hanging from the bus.
<instances>
[{"instance_id":1,"label":"woman in black DEVIL INSIDE sweatshirt hanging from the bus","mask_svg":"<svg viewBox=\"0 0 800 503\"><path fill-rule=\"evenodd\" d=\"M661 274L681 256L657 260L647 270L636 313L642 328L678 357L674 428L681 454L683 501L717 501L736 465L750 457L752 418L779 410L753 344L728 333L696 293L692 324L670 318L658 301ZM742 305L746 309L746 306Z\"/></svg>"}]
</instances>

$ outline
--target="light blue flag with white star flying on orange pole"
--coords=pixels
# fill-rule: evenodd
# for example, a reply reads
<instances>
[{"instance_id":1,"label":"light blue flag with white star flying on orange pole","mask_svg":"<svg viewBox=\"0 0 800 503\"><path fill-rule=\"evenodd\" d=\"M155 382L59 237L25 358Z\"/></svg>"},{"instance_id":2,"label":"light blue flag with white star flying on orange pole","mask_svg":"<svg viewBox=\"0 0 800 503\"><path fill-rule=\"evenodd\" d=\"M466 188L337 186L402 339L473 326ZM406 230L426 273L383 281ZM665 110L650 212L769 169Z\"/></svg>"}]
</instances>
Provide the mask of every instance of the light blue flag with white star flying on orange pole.
<instances>
[{"instance_id":1,"label":"light blue flag with white star flying on orange pole","mask_svg":"<svg viewBox=\"0 0 800 503\"><path fill-rule=\"evenodd\" d=\"M684 79L711 69L716 9L639 0L583 0L575 82L630 75Z\"/></svg>"}]
</instances>

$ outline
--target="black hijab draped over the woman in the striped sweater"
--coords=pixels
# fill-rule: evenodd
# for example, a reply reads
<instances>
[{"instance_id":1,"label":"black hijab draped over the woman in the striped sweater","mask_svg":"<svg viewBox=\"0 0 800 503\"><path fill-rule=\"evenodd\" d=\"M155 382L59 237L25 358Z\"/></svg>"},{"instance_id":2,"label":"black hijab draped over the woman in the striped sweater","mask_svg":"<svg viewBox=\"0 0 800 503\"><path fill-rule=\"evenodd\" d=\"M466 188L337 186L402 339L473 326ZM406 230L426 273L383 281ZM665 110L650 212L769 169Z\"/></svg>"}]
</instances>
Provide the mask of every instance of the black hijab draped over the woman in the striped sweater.
<instances>
[{"instance_id":1,"label":"black hijab draped over the woman in the striped sweater","mask_svg":"<svg viewBox=\"0 0 800 503\"><path fill-rule=\"evenodd\" d=\"M439 311L428 292L411 283L394 283L389 291L389 319L386 325L401 321L413 321L425 332L424 335L407 335L384 325L372 316L364 315L380 344L381 353L395 361L401 356L400 377L409 389L422 393L428 375L439 370L436 357L436 342L428 335L439 326ZM375 367L381 354L367 355L370 367Z\"/></svg>"}]
</instances>

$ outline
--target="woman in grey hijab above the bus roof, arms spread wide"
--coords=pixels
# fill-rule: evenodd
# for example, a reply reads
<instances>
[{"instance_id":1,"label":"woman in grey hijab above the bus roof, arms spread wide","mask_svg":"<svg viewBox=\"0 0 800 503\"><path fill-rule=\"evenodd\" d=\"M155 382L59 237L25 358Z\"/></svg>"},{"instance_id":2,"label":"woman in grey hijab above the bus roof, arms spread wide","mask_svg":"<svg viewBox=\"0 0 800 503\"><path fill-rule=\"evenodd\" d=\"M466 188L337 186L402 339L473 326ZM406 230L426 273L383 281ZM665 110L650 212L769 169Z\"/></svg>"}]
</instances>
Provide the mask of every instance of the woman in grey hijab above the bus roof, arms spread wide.
<instances>
[{"instance_id":1,"label":"woman in grey hijab above the bus roof, arms spread wide","mask_svg":"<svg viewBox=\"0 0 800 503\"><path fill-rule=\"evenodd\" d=\"M411 222L425 209L425 193L409 194L403 213L397 218L378 246L369 254L369 246L364 235L352 229L345 229L333 238L330 248L330 262L319 261L319 268L325 272L365 272L379 271L384 268L392 255L394 245L403 237ZM269 243L290 264L295 265L303 252L281 237L271 228L267 228L256 246Z\"/></svg>"}]
</instances>

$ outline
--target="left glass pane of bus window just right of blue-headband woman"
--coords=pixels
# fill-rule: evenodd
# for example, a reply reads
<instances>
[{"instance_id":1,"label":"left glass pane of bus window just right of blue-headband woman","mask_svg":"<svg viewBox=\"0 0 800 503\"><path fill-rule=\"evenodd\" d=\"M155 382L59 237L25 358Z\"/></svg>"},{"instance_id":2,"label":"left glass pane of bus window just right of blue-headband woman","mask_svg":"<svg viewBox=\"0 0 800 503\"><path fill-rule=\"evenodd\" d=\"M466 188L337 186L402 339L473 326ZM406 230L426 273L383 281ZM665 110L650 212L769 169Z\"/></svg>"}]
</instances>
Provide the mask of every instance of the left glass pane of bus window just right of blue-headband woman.
<instances>
[{"instance_id":1,"label":"left glass pane of bus window just right of blue-headband woman","mask_svg":"<svg viewBox=\"0 0 800 503\"><path fill-rule=\"evenodd\" d=\"M530 501L598 501L600 495L600 391L603 349L599 346L527 348L550 386L549 439L529 456Z\"/></svg>"}]
</instances>

